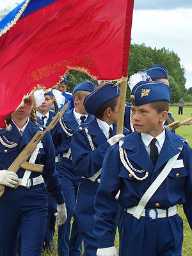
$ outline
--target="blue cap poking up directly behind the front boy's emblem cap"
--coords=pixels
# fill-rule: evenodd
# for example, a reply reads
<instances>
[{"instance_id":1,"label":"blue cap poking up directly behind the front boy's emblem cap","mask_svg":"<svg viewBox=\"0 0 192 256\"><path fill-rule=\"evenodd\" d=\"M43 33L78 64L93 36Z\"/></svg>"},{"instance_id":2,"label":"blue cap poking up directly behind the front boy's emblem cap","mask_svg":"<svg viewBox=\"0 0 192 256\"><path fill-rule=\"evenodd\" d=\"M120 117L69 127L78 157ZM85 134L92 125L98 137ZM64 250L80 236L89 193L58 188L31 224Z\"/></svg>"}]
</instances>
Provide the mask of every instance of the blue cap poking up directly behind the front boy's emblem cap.
<instances>
[{"instance_id":1,"label":"blue cap poking up directly behind the front boy's emblem cap","mask_svg":"<svg viewBox=\"0 0 192 256\"><path fill-rule=\"evenodd\" d=\"M143 72L146 72L151 79L166 78L168 79L168 71L163 65L154 65L150 68L147 68Z\"/></svg>"}]
</instances>

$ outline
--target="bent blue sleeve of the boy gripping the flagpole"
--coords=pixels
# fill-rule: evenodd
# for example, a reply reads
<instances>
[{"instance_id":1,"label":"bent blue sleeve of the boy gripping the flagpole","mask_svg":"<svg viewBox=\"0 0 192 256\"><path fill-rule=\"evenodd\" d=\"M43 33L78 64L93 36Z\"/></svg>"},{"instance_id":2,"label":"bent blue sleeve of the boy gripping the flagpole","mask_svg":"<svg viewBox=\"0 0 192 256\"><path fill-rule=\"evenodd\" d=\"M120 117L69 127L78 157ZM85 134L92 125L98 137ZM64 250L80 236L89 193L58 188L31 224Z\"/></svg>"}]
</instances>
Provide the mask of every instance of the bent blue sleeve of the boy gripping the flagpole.
<instances>
[{"instance_id":1,"label":"bent blue sleeve of the boy gripping the flagpole","mask_svg":"<svg viewBox=\"0 0 192 256\"><path fill-rule=\"evenodd\" d=\"M85 131L75 131L71 141L72 163L74 170L85 178L92 177L102 167L104 155L109 148L107 139L92 150Z\"/></svg>"}]
</instances>

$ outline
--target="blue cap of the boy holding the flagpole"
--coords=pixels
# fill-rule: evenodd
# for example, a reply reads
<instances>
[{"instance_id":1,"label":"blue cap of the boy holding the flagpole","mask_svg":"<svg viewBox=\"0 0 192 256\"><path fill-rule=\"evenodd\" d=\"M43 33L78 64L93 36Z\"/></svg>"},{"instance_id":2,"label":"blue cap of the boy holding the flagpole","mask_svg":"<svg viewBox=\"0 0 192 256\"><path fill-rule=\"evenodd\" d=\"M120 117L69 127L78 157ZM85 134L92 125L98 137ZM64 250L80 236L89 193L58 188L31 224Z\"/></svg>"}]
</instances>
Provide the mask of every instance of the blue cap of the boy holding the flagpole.
<instances>
[{"instance_id":1,"label":"blue cap of the boy holding the flagpole","mask_svg":"<svg viewBox=\"0 0 192 256\"><path fill-rule=\"evenodd\" d=\"M84 108L87 113L95 115L95 112L102 104L118 97L119 94L120 88L115 83L108 82L84 98Z\"/></svg>"}]
</instances>

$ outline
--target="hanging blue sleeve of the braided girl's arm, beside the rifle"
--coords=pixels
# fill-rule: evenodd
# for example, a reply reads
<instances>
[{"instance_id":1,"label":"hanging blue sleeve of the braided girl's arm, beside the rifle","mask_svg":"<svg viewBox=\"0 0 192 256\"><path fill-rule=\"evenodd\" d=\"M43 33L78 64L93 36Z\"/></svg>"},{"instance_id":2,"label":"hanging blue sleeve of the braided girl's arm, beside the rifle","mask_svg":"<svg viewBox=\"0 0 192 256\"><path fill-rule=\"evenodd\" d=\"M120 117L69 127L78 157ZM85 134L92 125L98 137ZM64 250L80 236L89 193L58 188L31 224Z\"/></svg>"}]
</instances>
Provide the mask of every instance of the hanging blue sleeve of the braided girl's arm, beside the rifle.
<instances>
[{"instance_id":1,"label":"hanging blue sleeve of the braided girl's arm, beside the rifle","mask_svg":"<svg viewBox=\"0 0 192 256\"><path fill-rule=\"evenodd\" d=\"M45 180L47 191L55 198L57 204L63 204L65 200L61 190L61 182L55 168L54 145L49 132L45 134L44 141L42 141L42 143L45 150L45 154L41 159L44 164L44 172L42 175Z\"/></svg>"}]
</instances>

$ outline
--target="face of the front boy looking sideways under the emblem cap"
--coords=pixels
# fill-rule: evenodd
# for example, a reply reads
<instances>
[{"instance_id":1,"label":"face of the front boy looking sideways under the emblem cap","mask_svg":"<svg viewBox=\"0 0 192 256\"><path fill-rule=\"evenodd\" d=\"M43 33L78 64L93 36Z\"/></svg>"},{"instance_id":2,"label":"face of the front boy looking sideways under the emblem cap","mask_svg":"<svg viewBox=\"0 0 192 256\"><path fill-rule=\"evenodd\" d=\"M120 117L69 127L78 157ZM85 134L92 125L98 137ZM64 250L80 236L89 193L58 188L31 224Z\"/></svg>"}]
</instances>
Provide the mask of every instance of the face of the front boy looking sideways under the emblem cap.
<instances>
[{"instance_id":1,"label":"face of the front boy looking sideways under the emblem cap","mask_svg":"<svg viewBox=\"0 0 192 256\"><path fill-rule=\"evenodd\" d=\"M166 120L167 111L157 113L151 104L131 106L132 124L137 132L146 132L156 137L163 131L163 122Z\"/></svg>"}]
</instances>

